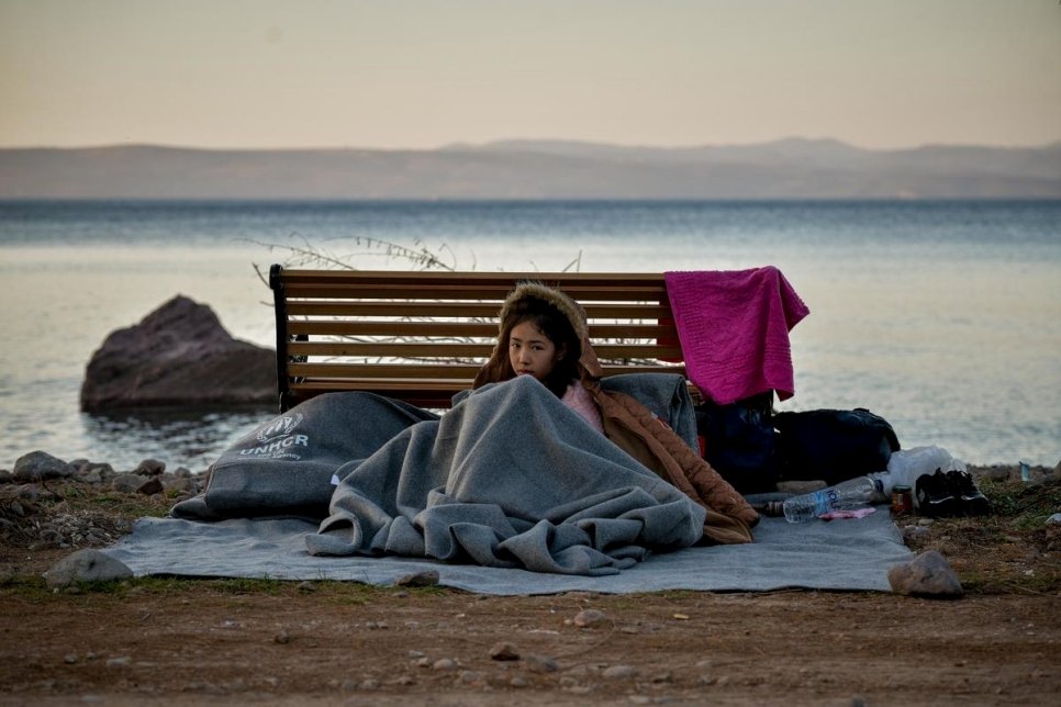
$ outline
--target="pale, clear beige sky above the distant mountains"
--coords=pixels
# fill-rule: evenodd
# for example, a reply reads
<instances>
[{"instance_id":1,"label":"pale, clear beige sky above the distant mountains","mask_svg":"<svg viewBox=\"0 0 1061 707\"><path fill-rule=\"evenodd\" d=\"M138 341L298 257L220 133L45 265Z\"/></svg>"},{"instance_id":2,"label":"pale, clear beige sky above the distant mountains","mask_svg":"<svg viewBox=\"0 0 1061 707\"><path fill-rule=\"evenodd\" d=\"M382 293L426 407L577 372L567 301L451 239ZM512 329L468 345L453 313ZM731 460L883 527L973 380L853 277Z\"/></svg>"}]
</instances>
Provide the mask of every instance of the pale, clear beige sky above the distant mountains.
<instances>
[{"instance_id":1,"label":"pale, clear beige sky above the distant mountains","mask_svg":"<svg viewBox=\"0 0 1061 707\"><path fill-rule=\"evenodd\" d=\"M1061 141L1058 0L0 0L0 147Z\"/></svg>"}]
</instances>

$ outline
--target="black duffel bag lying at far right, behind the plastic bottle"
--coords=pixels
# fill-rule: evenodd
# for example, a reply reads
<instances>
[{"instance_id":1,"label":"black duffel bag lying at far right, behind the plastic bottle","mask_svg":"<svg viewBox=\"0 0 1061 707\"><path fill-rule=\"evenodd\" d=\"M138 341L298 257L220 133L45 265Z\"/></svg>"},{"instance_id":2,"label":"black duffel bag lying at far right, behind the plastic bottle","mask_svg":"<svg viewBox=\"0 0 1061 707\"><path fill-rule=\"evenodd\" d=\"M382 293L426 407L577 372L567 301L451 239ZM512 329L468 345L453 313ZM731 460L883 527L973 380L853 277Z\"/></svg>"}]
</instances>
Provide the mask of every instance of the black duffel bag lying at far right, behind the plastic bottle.
<instances>
[{"instance_id":1,"label":"black duffel bag lying at far right, behind the plastic bottle","mask_svg":"<svg viewBox=\"0 0 1061 707\"><path fill-rule=\"evenodd\" d=\"M895 430L864 407L779 413L782 481L824 480L833 485L885 471L900 448Z\"/></svg>"}]
</instances>

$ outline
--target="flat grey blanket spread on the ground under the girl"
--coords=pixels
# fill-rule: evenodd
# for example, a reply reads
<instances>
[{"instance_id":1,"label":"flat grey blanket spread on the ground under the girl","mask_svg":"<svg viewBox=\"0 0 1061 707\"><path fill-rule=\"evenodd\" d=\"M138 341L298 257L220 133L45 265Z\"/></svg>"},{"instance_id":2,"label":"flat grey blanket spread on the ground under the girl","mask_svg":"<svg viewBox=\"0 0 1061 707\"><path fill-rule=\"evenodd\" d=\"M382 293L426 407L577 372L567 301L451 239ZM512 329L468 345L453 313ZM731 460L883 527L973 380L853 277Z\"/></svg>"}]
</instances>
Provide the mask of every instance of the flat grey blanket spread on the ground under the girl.
<instances>
[{"instance_id":1,"label":"flat grey blanket spread on the ground under the girl","mask_svg":"<svg viewBox=\"0 0 1061 707\"><path fill-rule=\"evenodd\" d=\"M217 523L143 518L131 535L104 552L129 565L136 576L331 580L387 586L405 575L433 570L443 586L499 596L793 587L889 592L887 570L914 557L884 507L858 520L792 525L783 518L763 518L755 529L753 543L651 554L627 570L603 576L401 557L315 557L305 551L305 538L316 528L315 523L294 518Z\"/></svg>"}]
</instances>

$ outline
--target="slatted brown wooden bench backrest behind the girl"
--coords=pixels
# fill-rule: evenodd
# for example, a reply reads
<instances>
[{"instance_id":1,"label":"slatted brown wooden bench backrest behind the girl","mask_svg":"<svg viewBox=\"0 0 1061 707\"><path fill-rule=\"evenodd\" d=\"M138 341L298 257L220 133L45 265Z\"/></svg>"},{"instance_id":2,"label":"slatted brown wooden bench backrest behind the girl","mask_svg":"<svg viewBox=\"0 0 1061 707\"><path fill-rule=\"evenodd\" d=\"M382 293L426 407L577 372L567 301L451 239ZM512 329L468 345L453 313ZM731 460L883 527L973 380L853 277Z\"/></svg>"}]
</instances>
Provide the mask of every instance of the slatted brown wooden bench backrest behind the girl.
<instances>
[{"instance_id":1,"label":"slatted brown wooden bench backrest behind the girl","mask_svg":"<svg viewBox=\"0 0 1061 707\"><path fill-rule=\"evenodd\" d=\"M684 374L662 273L297 270L273 265L280 409L333 391L446 408L471 388L516 282L584 308L605 375Z\"/></svg>"}]
</instances>

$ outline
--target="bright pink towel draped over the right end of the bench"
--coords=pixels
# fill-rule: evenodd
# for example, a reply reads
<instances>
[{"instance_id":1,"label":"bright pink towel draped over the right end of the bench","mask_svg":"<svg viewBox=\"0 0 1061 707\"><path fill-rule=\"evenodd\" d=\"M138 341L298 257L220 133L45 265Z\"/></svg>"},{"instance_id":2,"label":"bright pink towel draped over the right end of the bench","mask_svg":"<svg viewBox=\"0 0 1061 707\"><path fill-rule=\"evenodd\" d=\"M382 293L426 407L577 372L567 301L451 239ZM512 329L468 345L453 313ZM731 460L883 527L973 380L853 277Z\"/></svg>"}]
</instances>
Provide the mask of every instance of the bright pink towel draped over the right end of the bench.
<instances>
[{"instance_id":1,"label":"bright pink towel draped over the right end of the bench","mask_svg":"<svg viewBox=\"0 0 1061 707\"><path fill-rule=\"evenodd\" d=\"M781 271L666 272L689 379L719 405L792 397L789 332L811 313Z\"/></svg>"}]
</instances>

